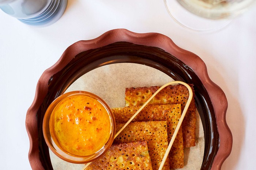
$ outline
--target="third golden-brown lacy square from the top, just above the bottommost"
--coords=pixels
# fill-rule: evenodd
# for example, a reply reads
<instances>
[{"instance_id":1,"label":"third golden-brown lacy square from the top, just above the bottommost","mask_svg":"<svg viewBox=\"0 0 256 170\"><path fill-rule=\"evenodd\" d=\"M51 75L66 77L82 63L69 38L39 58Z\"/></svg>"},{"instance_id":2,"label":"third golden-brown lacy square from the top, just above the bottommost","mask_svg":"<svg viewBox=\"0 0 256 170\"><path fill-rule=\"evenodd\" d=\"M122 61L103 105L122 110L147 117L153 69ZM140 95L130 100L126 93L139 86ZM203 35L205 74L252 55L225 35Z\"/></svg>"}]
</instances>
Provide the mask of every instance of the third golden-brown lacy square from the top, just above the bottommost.
<instances>
[{"instance_id":1,"label":"third golden-brown lacy square from the top, just above the bottommost","mask_svg":"<svg viewBox=\"0 0 256 170\"><path fill-rule=\"evenodd\" d=\"M124 124L116 124L118 132ZM116 137L114 143L147 141L152 168L158 169L168 147L166 121L147 121L129 123ZM169 161L165 161L163 170L169 170Z\"/></svg>"}]
</instances>

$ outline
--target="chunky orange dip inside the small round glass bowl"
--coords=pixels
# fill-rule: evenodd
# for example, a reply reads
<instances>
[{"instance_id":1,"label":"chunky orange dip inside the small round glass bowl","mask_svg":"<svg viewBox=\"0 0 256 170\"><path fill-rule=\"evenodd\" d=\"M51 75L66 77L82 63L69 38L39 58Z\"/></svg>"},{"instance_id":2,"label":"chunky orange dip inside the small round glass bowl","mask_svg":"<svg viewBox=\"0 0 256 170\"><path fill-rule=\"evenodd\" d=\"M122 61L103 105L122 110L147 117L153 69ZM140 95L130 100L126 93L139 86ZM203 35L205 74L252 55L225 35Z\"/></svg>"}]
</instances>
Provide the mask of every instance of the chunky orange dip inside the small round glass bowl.
<instances>
[{"instance_id":1,"label":"chunky orange dip inside the small round glass bowl","mask_svg":"<svg viewBox=\"0 0 256 170\"><path fill-rule=\"evenodd\" d=\"M110 138L109 113L98 100L89 96L65 98L53 109L50 119L55 138L64 150L74 155L94 154Z\"/></svg>"}]
</instances>

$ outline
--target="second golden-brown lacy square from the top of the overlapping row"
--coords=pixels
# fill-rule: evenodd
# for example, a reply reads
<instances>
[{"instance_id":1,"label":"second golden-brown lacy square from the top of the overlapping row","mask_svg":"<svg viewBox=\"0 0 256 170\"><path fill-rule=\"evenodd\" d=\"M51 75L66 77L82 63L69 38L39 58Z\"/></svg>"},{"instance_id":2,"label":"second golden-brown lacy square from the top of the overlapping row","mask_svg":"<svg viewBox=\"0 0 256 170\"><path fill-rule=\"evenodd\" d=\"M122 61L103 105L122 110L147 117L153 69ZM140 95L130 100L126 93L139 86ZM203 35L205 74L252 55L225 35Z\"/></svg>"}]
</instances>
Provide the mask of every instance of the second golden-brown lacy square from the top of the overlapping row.
<instances>
[{"instance_id":1,"label":"second golden-brown lacy square from the top of the overlapping row","mask_svg":"<svg viewBox=\"0 0 256 170\"><path fill-rule=\"evenodd\" d=\"M140 107L112 108L116 123L126 123ZM181 105L154 105L146 106L132 120L134 121L166 121L168 143L172 139L177 123L181 116ZM184 167L184 150L182 127L174 140L173 146L169 152L170 169L179 169Z\"/></svg>"}]
</instances>

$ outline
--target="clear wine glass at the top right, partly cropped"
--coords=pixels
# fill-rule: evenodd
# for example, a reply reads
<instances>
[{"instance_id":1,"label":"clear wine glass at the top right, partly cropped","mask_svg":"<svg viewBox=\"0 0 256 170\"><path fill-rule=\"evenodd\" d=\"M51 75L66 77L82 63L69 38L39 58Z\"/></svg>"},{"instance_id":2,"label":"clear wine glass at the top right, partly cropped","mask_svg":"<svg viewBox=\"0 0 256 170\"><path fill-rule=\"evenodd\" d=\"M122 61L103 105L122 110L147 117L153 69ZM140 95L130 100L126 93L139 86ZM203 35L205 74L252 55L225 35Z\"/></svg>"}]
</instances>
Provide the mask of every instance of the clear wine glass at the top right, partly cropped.
<instances>
[{"instance_id":1,"label":"clear wine glass at the top right, partly cropped","mask_svg":"<svg viewBox=\"0 0 256 170\"><path fill-rule=\"evenodd\" d=\"M255 0L164 0L165 7L175 22L198 32L211 32L225 27L255 2Z\"/></svg>"}]
</instances>

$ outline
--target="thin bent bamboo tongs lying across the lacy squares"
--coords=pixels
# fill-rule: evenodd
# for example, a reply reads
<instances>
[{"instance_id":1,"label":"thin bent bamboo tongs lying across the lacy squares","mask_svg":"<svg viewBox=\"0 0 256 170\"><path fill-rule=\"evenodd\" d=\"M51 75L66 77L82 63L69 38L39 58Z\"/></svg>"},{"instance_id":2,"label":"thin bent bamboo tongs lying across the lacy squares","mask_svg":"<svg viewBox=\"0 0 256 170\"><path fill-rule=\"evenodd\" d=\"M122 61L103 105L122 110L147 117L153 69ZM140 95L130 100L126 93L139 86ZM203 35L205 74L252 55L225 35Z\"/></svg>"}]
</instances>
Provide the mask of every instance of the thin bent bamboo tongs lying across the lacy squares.
<instances>
[{"instance_id":1,"label":"thin bent bamboo tongs lying across the lacy squares","mask_svg":"<svg viewBox=\"0 0 256 170\"><path fill-rule=\"evenodd\" d=\"M188 110L189 104L191 103L191 100L192 100L192 98L193 98L193 91L192 91L191 87L190 87L187 83L182 82L182 81L172 81L172 82L168 82L168 83L166 83L165 85L161 86L161 88L159 88L159 89L142 105L142 107L140 107L139 110L138 110L136 113L134 113L134 115L131 117L131 119L129 119L129 120L127 121L127 123L125 123L125 125L124 125L124 126L116 133L116 135L114 136L114 138L116 138L116 137L124 130L124 128L127 127L127 125L128 125L129 123L131 123L131 121L134 119L134 117L136 117L136 116L139 114L139 112L152 100L152 98L154 98L155 95L157 95L158 92L160 92L160 91L161 91L163 88L165 88L166 86L173 85L173 84L182 84L182 85L186 86L186 87L188 88L188 91L189 91L189 97L188 97L188 101L187 101L187 103L186 103L186 105L185 105L185 108L184 108L182 114L181 114L180 120L178 121L177 127L176 127L176 129L175 129L175 131L174 131L174 133L173 133L172 139L171 139L171 141L170 141L170 143L169 143L169 145L168 145L168 147L167 147L167 149L166 149L165 155L164 155L164 157L163 157L163 160L162 160L162 162L161 162L160 167L159 167L158 170L162 170L162 168L163 168L163 165L164 165L164 163L165 163L165 161L166 161L166 159L167 159L167 156L168 156L168 154L169 154L169 152L170 152L170 150L171 150L171 148L172 148L174 139L175 139L176 136L177 136L178 130L180 129L181 123L182 123L182 121L183 121L183 119L184 119L184 116L185 116L187 110ZM91 162L90 162L90 163L91 163ZM90 163L87 163L87 164L83 167L82 170L85 170L85 169L90 165Z\"/></svg>"}]
</instances>

